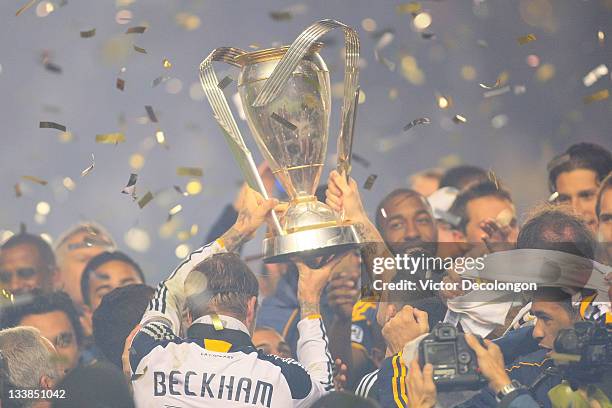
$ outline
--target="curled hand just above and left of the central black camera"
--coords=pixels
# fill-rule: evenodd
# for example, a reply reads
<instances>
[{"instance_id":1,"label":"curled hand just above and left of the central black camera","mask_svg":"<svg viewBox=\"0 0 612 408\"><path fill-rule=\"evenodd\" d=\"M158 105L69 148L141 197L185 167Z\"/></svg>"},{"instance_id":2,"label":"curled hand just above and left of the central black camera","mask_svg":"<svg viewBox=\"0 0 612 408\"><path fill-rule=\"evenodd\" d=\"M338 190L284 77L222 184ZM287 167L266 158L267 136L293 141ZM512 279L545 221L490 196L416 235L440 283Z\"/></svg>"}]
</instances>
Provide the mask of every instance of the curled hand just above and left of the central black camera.
<instances>
[{"instance_id":1,"label":"curled hand just above and left of the central black camera","mask_svg":"<svg viewBox=\"0 0 612 408\"><path fill-rule=\"evenodd\" d=\"M425 333L429 333L427 312L410 305L404 306L382 328L387 347L393 354L402 350L409 341Z\"/></svg>"}]
</instances>

